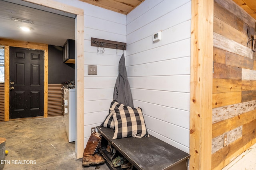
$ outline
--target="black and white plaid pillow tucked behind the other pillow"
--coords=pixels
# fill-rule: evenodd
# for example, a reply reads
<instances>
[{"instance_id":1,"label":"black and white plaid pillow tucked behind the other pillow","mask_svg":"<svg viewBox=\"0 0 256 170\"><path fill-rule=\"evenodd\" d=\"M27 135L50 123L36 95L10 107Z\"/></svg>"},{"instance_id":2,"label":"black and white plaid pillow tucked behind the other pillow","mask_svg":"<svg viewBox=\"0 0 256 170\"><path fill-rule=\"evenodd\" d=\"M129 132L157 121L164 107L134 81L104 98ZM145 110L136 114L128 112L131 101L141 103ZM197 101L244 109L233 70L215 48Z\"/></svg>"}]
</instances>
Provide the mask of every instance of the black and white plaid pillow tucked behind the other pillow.
<instances>
[{"instance_id":1,"label":"black and white plaid pillow tucked behind the other pillow","mask_svg":"<svg viewBox=\"0 0 256 170\"><path fill-rule=\"evenodd\" d=\"M113 100L110 104L110 109L118 109L118 108L123 108L123 107L124 107L124 104L120 104L116 100ZM100 126L114 129L114 120L113 120L113 116L112 116L110 109L108 111L109 113L108 113L107 117L101 123Z\"/></svg>"}]
</instances>

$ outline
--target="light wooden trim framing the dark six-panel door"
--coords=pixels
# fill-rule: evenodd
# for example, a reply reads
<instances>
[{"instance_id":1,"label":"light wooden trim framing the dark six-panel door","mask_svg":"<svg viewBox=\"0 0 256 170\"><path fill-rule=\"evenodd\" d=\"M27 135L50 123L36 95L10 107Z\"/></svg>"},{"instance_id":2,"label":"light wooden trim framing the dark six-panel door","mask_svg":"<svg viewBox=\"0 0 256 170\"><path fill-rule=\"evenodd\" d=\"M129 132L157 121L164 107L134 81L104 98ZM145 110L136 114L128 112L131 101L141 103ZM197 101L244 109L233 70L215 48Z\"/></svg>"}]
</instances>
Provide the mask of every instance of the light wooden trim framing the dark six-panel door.
<instances>
[{"instance_id":1,"label":"light wooden trim framing the dark six-panel door","mask_svg":"<svg viewBox=\"0 0 256 170\"><path fill-rule=\"evenodd\" d=\"M30 43L11 39L0 39L0 45L4 45L4 121L9 121L9 81L10 81L10 47L37 49L44 51L44 117L48 116L48 45L42 43ZM8 96L8 97L7 97Z\"/></svg>"}]
</instances>

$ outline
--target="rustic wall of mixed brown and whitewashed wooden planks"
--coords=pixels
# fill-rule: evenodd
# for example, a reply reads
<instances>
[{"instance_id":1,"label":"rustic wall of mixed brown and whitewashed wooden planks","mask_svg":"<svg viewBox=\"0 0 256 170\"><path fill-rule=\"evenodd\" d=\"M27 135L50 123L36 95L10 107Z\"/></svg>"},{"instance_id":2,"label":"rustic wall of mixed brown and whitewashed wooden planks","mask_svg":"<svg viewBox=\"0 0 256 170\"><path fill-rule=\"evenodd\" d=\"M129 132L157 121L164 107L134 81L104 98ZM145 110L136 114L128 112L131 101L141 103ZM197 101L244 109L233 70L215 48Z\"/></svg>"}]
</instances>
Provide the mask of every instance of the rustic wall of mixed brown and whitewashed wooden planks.
<instances>
[{"instance_id":1,"label":"rustic wall of mixed brown and whitewashed wooden planks","mask_svg":"<svg viewBox=\"0 0 256 170\"><path fill-rule=\"evenodd\" d=\"M255 21L232 0L214 0L212 169L256 142L256 53L246 35Z\"/></svg>"}]
</instances>

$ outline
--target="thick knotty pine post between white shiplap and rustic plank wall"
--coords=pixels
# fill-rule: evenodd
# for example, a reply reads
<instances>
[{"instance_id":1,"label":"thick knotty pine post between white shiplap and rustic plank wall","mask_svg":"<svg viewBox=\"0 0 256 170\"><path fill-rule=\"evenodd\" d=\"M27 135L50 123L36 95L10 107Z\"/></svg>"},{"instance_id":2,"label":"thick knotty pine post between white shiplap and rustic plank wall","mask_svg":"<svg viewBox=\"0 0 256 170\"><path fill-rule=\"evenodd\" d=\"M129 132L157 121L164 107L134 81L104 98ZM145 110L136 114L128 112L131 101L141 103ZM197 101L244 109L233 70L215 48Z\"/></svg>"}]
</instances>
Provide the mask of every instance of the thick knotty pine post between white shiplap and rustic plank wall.
<instances>
[{"instance_id":1,"label":"thick knotty pine post between white shiplap and rustic plank wall","mask_svg":"<svg viewBox=\"0 0 256 170\"><path fill-rule=\"evenodd\" d=\"M212 162L213 6L213 0L192 0L189 166L193 170L210 170Z\"/></svg>"}]
</instances>

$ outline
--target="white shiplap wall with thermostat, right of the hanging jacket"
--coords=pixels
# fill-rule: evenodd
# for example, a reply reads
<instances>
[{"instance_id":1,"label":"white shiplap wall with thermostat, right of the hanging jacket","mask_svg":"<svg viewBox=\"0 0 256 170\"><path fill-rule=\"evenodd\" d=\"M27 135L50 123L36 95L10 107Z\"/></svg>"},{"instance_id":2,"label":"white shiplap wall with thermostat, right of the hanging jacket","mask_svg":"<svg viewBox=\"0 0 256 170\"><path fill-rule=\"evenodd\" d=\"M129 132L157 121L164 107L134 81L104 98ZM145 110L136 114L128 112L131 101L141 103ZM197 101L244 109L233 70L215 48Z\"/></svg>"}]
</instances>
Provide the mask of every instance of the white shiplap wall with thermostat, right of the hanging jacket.
<instances>
[{"instance_id":1,"label":"white shiplap wall with thermostat, right of the hanging jacket","mask_svg":"<svg viewBox=\"0 0 256 170\"><path fill-rule=\"evenodd\" d=\"M126 69L148 132L189 152L191 0L145 0L126 17ZM152 35L162 31L162 40Z\"/></svg>"}]
</instances>

